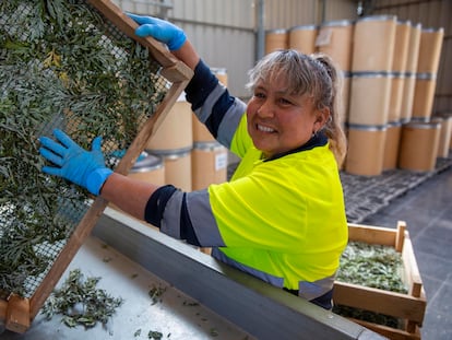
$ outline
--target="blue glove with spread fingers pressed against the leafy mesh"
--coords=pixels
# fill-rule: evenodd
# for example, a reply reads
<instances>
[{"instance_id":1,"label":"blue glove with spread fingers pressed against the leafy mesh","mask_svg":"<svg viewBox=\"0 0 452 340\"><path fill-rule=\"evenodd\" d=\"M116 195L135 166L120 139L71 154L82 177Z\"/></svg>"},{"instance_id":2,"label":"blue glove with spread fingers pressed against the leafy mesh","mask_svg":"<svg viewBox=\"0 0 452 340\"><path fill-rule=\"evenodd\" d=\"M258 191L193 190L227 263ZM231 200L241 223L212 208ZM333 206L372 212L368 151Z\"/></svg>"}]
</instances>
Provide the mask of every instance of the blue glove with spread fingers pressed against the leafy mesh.
<instances>
[{"instance_id":1,"label":"blue glove with spread fingers pressed against the leafy mesh","mask_svg":"<svg viewBox=\"0 0 452 340\"><path fill-rule=\"evenodd\" d=\"M102 137L93 140L92 151L82 149L68 134L59 129L53 130L57 141L40 137L43 148L39 153L55 166L43 166L43 172L68 179L86 188L91 194L99 195L99 190L112 171L105 166L102 153Z\"/></svg>"}]
</instances>

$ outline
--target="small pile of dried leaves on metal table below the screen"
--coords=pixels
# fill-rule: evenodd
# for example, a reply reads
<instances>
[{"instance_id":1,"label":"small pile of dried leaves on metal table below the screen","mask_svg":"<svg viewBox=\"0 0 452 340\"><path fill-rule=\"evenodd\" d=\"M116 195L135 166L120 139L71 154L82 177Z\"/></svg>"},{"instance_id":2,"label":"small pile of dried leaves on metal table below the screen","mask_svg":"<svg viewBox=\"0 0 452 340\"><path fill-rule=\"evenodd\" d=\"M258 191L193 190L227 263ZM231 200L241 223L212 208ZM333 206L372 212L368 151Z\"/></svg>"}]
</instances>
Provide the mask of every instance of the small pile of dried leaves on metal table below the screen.
<instances>
[{"instance_id":1,"label":"small pile of dried leaves on metal table below the screen","mask_svg":"<svg viewBox=\"0 0 452 340\"><path fill-rule=\"evenodd\" d=\"M80 269L71 270L61 288L47 298L43 307L46 318L62 315L62 323L68 327L91 328L97 323L106 325L123 301L97 289L99 280L100 278L85 280Z\"/></svg>"}]
</instances>

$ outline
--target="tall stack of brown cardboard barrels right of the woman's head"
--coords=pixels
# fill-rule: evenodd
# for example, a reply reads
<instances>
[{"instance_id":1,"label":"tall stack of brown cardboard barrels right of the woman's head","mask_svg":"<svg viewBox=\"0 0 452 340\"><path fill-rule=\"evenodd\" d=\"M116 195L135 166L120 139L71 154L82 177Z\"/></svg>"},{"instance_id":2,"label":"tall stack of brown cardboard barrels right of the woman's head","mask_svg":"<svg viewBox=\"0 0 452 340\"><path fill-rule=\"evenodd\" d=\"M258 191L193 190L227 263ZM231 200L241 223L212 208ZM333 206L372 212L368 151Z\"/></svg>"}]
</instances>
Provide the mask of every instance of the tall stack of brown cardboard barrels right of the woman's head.
<instances>
[{"instance_id":1,"label":"tall stack of brown cardboard barrels right of the woman's head","mask_svg":"<svg viewBox=\"0 0 452 340\"><path fill-rule=\"evenodd\" d=\"M394 15L372 15L267 31L265 52L320 51L342 69L345 172L430 172L437 157L449 156L452 133L451 116L432 115L443 34Z\"/></svg>"}]
</instances>

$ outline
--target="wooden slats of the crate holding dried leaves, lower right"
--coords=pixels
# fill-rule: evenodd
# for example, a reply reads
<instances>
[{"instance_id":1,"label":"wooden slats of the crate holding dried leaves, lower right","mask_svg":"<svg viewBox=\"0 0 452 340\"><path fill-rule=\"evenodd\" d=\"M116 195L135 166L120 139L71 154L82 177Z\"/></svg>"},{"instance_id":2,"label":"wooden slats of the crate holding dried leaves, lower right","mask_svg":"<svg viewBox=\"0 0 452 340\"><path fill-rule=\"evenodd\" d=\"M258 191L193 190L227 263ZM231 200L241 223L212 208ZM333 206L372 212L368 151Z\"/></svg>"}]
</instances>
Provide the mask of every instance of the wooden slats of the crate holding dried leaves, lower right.
<instances>
[{"instance_id":1,"label":"wooden slats of the crate holding dried leaves, lower right","mask_svg":"<svg viewBox=\"0 0 452 340\"><path fill-rule=\"evenodd\" d=\"M391 246L402 254L402 280L408 288L408 293L401 294L336 281L334 304L402 319L403 329L353 319L389 339L420 339L419 328L423 325L427 300L405 222L399 221L396 228L349 223L348 232L349 241Z\"/></svg>"}]
</instances>

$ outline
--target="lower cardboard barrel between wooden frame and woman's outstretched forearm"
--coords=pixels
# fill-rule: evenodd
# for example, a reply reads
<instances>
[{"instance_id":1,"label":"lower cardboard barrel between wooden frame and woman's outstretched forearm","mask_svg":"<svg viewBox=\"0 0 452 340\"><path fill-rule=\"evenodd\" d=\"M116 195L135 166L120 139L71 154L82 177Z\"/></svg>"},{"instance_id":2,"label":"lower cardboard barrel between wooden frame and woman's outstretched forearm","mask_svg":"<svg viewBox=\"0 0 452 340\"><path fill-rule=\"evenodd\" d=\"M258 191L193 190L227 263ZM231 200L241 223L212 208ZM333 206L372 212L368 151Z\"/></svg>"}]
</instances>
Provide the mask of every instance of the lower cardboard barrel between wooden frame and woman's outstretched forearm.
<instances>
[{"instance_id":1,"label":"lower cardboard barrel between wooden frame and woman's outstretched forearm","mask_svg":"<svg viewBox=\"0 0 452 340\"><path fill-rule=\"evenodd\" d=\"M165 185L165 165L162 157L142 152L135 164L129 171L129 177L152 183L158 186Z\"/></svg>"}]
</instances>

